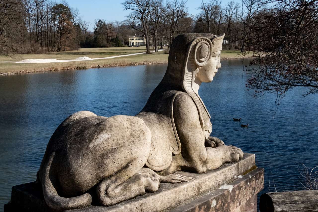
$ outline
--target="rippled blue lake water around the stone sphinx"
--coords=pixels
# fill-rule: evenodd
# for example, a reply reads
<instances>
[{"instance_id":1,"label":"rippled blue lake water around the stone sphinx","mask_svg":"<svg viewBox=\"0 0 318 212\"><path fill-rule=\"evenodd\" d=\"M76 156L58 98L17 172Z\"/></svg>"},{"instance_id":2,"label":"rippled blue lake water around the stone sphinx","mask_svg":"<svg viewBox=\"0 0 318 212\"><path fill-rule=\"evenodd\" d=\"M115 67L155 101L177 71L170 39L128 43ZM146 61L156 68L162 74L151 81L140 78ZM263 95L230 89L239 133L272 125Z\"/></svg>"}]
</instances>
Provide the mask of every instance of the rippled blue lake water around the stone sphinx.
<instances>
[{"instance_id":1,"label":"rippled blue lake water around the stone sphinx","mask_svg":"<svg viewBox=\"0 0 318 212\"><path fill-rule=\"evenodd\" d=\"M245 61L247 63L248 61ZM265 189L302 189L298 166L318 166L318 95L294 89L280 101L254 99L241 60L223 60L199 94L211 114L212 135L256 155ZM0 77L0 211L11 187L36 179L47 142L70 114L135 115L161 81L167 65L112 67ZM276 111L277 110L277 111ZM275 114L276 111L276 114ZM274 115L275 114L275 115ZM242 118L239 122L232 118Z\"/></svg>"}]
</instances>

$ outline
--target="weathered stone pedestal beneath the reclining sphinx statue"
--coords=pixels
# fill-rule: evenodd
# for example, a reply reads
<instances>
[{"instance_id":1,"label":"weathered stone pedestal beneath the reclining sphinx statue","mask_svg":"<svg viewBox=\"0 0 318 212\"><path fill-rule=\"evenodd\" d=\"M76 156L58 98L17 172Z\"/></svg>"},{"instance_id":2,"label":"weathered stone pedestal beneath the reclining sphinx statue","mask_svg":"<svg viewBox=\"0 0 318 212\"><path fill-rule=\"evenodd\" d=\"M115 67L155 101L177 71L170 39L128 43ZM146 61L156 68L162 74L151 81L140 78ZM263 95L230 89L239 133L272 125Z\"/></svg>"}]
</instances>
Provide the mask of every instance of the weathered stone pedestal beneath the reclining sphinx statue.
<instances>
[{"instance_id":1,"label":"weathered stone pedestal beneath the reclining sphinx statue","mask_svg":"<svg viewBox=\"0 0 318 212\"><path fill-rule=\"evenodd\" d=\"M255 166L255 155L244 153L237 163L225 164L203 174L186 173L196 180L188 183L162 183L155 193L110 207L91 205L73 212L135 211L257 211L257 194L264 187L264 170ZM49 211L42 190L34 182L12 187L11 202L4 211Z\"/></svg>"}]
</instances>

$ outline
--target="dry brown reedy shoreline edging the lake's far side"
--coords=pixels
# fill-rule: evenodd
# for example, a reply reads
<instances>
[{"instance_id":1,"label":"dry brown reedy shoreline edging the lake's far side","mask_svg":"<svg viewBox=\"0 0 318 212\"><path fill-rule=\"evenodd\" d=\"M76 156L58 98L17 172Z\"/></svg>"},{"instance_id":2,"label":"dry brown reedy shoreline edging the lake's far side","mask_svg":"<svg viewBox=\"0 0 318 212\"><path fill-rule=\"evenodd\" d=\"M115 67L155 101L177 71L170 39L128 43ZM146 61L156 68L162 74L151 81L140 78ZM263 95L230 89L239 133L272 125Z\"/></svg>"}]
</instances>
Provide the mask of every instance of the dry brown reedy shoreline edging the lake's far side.
<instances>
[{"instance_id":1,"label":"dry brown reedy shoreline edging the lake's far side","mask_svg":"<svg viewBox=\"0 0 318 212\"><path fill-rule=\"evenodd\" d=\"M246 57L224 57L220 60L235 60L235 59L245 59L252 58L252 56ZM104 63L104 64L78 64L78 65L69 65L62 67L43 67L43 68L32 68L32 69L23 69L9 72L0 72L0 76L5 75L13 75L13 74L29 74L29 73L40 73L40 72L51 72L51 71L64 71L64 70L81 70L81 69L89 69L89 68L107 68L107 67L119 67L119 66L137 66L137 65L152 65L152 64L166 64L168 60L159 60L159 61L140 61L140 62L131 62L131 61L123 61L120 63Z\"/></svg>"}]
</instances>

